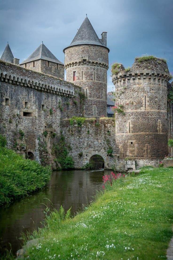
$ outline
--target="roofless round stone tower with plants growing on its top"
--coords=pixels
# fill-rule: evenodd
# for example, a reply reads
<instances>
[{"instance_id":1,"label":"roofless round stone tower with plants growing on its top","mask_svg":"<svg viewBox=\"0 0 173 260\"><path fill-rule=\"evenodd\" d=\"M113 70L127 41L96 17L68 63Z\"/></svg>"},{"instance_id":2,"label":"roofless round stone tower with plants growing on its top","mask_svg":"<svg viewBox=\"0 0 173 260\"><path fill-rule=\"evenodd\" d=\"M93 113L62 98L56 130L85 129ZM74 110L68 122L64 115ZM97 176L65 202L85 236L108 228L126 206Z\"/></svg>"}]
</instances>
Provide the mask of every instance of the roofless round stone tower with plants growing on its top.
<instances>
[{"instance_id":1,"label":"roofless round stone tower with plants growing on its top","mask_svg":"<svg viewBox=\"0 0 173 260\"><path fill-rule=\"evenodd\" d=\"M116 142L120 158L157 160L167 155L167 82L164 59L136 58L130 71L115 65Z\"/></svg>"}]
</instances>

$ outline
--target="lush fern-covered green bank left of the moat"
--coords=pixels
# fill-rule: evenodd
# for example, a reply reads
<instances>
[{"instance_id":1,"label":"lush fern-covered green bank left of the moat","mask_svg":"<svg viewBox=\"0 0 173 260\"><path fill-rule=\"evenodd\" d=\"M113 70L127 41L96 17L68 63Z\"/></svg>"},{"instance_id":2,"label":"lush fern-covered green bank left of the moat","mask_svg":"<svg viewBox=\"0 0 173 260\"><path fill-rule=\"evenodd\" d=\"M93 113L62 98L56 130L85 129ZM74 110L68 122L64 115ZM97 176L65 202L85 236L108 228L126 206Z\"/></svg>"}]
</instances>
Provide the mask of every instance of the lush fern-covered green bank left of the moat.
<instances>
[{"instance_id":1,"label":"lush fern-covered green bank left of the moat","mask_svg":"<svg viewBox=\"0 0 173 260\"><path fill-rule=\"evenodd\" d=\"M23 159L14 151L0 146L0 205L41 189L50 176L49 167Z\"/></svg>"}]
</instances>

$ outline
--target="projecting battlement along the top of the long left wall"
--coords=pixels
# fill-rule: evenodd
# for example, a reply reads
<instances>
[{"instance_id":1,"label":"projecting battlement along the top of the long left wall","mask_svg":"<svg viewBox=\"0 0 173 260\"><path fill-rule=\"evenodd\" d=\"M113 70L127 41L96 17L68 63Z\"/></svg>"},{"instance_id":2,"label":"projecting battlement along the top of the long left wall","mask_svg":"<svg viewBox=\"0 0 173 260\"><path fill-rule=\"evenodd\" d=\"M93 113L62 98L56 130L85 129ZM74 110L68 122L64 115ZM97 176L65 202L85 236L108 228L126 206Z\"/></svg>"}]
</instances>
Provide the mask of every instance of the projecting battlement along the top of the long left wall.
<instances>
[{"instance_id":1,"label":"projecting battlement along the top of the long left wall","mask_svg":"<svg viewBox=\"0 0 173 260\"><path fill-rule=\"evenodd\" d=\"M73 97L75 85L53 76L0 61L0 81L34 88L60 96Z\"/></svg>"}]
</instances>

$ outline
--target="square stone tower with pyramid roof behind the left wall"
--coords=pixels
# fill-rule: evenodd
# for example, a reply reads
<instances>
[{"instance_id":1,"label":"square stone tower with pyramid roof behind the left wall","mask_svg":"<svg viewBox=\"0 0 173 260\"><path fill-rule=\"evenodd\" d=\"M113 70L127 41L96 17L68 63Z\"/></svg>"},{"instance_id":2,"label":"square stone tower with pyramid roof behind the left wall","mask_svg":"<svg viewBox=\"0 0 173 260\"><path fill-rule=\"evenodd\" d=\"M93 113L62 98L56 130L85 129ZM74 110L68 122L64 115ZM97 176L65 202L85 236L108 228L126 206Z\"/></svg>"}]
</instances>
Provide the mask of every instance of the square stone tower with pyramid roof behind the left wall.
<instances>
[{"instance_id":1,"label":"square stone tower with pyramid roof behind the left wall","mask_svg":"<svg viewBox=\"0 0 173 260\"><path fill-rule=\"evenodd\" d=\"M64 79L64 64L51 53L43 42L25 61L20 63L20 66Z\"/></svg>"}]
</instances>

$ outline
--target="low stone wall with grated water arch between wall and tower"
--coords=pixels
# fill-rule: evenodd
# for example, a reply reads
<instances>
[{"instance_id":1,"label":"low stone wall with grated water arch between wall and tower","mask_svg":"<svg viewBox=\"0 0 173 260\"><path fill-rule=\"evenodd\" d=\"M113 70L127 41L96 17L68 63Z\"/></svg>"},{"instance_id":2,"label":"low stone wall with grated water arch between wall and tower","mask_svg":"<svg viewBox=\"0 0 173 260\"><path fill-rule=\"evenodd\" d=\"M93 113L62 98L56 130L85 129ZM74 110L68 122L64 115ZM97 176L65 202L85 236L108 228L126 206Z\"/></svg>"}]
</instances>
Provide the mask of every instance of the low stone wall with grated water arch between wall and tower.
<instances>
[{"instance_id":1,"label":"low stone wall with grated water arch between wall and tower","mask_svg":"<svg viewBox=\"0 0 173 260\"><path fill-rule=\"evenodd\" d=\"M99 122L95 124L95 122ZM75 161L75 168L81 168L92 155L99 154L105 161L105 169L111 169L115 164L118 147L115 144L115 121L114 119L87 119L81 127L77 123L70 125L69 120L61 120L61 129L66 143L71 145L71 156ZM89 131L89 132L88 132ZM110 135L108 134L110 132ZM112 156L107 154L112 147ZM79 155L82 153L82 156Z\"/></svg>"}]
</instances>

